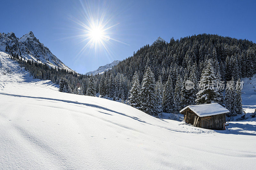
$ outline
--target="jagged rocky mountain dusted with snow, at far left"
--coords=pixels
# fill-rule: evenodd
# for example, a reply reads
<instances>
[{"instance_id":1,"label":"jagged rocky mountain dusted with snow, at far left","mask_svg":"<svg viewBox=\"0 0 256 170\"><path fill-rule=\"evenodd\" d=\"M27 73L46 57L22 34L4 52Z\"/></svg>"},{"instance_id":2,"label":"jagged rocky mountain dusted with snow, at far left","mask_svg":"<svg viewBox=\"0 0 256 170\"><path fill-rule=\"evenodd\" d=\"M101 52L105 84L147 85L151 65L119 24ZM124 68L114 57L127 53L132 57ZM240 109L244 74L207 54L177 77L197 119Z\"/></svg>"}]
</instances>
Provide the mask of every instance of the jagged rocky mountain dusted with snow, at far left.
<instances>
[{"instance_id":1,"label":"jagged rocky mountain dusted with snow, at far left","mask_svg":"<svg viewBox=\"0 0 256 170\"><path fill-rule=\"evenodd\" d=\"M61 69L73 71L53 55L49 48L36 39L32 31L21 38L17 38L12 32L0 33L0 51L8 54L16 53L25 58L25 60L29 59L39 63L46 63L53 68L59 66Z\"/></svg>"}]
</instances>

